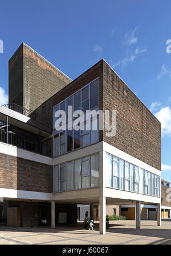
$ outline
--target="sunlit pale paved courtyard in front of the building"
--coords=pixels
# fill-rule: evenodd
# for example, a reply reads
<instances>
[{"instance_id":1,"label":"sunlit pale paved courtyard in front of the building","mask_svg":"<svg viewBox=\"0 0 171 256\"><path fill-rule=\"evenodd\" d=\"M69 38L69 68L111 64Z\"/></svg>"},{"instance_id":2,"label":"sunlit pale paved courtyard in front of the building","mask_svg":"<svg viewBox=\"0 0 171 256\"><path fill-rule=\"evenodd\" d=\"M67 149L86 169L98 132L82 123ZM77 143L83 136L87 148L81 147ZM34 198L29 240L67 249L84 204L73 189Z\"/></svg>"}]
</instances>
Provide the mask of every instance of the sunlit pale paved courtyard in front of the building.
<instances>
[{"instance_id":1,"label":"sunlit pale paved courtyard in front of the building","mask_svg":"<svg viewBox=\"0 0 171 256\"><path fill-rule=\"evenodd\" d=\"M95 231L77 225L50 227L7 227L0 226L0 245L171 245L171 219L141 221L141 229L135 221L110 221L105 235L99 234L99 223Z\"/></svg>"}]
</instances>

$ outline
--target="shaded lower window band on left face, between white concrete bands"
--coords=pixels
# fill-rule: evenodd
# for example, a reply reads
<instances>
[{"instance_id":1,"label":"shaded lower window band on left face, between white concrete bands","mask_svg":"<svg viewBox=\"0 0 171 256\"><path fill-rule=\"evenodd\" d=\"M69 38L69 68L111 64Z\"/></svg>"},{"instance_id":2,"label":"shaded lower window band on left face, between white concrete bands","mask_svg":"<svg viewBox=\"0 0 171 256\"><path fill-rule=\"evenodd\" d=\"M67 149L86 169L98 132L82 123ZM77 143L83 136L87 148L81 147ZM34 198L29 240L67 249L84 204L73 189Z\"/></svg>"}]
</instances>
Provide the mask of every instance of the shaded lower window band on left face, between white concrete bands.
<instances>
[{"instance_id":1,"label":"shaded lower window band on left face, between white concrete bands","mask_svg":"<svg viewBox=\"0 0 171 256\"><path fill-rule=\"evenodd\" d=\"M99 154L54 166L54 192L99 186Z\"/></svg>"}]
</instances>

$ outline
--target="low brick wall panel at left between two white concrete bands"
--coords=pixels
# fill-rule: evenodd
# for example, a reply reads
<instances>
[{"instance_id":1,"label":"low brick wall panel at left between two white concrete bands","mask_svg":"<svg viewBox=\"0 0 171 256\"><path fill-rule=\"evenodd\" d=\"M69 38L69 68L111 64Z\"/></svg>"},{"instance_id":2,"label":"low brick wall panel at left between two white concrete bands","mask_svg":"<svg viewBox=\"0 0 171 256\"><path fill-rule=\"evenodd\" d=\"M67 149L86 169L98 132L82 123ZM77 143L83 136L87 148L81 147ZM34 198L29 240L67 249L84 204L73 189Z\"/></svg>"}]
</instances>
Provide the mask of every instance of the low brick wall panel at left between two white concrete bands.
<instances>
[{"instance_id":1,"label":"low brick wall panel at left between two white concrete bands","mask_svg":"<svg viewBox=\"0 0 171 256\"><path fill-rule=\"evenodd\" d=\"M52 192L52 166L0 154L0 187Z\"/></svg>"}]
</instances>

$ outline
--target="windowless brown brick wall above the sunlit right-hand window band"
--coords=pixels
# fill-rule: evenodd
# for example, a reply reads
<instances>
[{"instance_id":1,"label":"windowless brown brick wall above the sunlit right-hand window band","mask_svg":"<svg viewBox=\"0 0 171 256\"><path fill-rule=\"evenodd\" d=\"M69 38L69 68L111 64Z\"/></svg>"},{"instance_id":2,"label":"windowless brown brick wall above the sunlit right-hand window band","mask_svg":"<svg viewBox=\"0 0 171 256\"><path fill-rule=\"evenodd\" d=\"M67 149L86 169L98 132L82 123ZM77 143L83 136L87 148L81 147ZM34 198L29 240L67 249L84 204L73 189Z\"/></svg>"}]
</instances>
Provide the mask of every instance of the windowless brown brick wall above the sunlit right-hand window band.
<instances>
[{"instance_id":1,"label":"windowless brown brick wall above the sunlit right-hand window band","mask_svg":"<svg viewBox=\"0 0 171 256\"><path fill-rule=\"evenodd\" d=\"M103 141L161 170L161 123L105 61L103 109L117 114L116 135Z\"/></svg>"}]
</instances>

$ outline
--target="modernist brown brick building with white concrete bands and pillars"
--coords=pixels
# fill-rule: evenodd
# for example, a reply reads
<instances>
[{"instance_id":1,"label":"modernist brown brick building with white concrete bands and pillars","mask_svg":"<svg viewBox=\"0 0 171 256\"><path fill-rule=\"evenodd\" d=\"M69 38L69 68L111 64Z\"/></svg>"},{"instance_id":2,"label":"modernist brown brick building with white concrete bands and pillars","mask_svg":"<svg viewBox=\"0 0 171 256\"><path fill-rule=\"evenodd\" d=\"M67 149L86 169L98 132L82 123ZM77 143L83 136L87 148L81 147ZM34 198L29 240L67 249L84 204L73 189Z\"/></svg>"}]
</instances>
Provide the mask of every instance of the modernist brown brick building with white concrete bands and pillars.
<instances>
[{"instance_id":1,"label":"modernist brown brick building with white concrete bands and pillars","mask_svg":"<svg viewBox=\"0 0 171 256\"><path fill-rule=\"evenodd\" d=\"M80 112L61 130L56 113L67 106ZM115 136L100 128L100 115L87 129L86 110L115 110ZM104 234L106 206L135 204L140 228L141 203L158 207L161 224L161 123L104 59L71 81L22 43L9 61L9 105L0 106L0 121L0 197L9 225L76 223L76 205L91 205L91 218L99 205ZM76 130L78 123L85 129Z\"/></svg>"}]
</instances>

